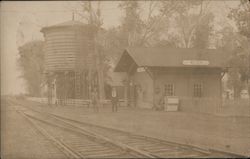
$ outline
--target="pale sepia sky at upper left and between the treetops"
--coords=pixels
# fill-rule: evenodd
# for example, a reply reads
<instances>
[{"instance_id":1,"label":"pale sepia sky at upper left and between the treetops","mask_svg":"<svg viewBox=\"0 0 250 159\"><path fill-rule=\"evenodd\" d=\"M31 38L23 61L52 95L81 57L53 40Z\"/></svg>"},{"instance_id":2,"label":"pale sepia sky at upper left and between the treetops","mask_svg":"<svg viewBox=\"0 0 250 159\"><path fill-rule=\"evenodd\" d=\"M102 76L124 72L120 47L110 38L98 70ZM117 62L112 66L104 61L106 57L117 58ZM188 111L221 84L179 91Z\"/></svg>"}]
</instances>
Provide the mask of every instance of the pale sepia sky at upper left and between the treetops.
<instances>
[{"instance_id":1,"label":"pale sepia sky at upper left and between the treetops","mask_svg":"<svg viewBox=\"0 0 250 159\"><path fill-rule=\"evenodd\" d=\"M25 81L19 77L21 72L16 63L18 46L32 40L43 40L41 28L71 20L72 9L80 10L79 3L79 1L0 2L1 94L25 92ZM119 3L101 2L104 28L120 24L123 14L118 8ZM211 9L218 23L227 14L228 10L225 8L238 5L237 0L218 0L211 3ZM80 20L80 17L75 15L75 19Z\"/></svg>"}]
</instances>

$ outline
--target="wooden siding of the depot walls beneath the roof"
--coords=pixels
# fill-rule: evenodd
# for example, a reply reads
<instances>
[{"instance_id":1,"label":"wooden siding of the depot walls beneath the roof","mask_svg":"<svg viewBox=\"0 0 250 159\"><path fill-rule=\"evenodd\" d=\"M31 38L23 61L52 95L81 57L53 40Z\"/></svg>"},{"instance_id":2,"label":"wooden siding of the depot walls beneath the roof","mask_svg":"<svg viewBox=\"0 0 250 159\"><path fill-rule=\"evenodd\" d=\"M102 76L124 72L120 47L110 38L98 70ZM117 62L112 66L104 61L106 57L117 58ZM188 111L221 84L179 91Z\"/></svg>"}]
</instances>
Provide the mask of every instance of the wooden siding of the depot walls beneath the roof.
<instances>
[{"instance_id":1,"label":"wooden siding of the depot walls beneath the roof","mask_svg":"<svg viewBox=\"0 0 250 159\"><path fill-rule=\"evenodd\" d=\"M143 93L141 99L137 95L136 104L138 107L158 106L166 84L174 85L174 94L180 99L181 111L186 111L189 108L193 111L196 109L196 106L193 105L196 104L202 107L201 110L197 109L197 111L214 112L214 108L221 105L221 100L213 101L213 99L221 99L220 69L168 68L151 69L151 71L153 79L147 72L135 72L131 75L133 85L140 86ZM201 98L193 97L195 83L202 83ZM205 104L206 102L207 104Z\"/></svg>"}]
</instances>

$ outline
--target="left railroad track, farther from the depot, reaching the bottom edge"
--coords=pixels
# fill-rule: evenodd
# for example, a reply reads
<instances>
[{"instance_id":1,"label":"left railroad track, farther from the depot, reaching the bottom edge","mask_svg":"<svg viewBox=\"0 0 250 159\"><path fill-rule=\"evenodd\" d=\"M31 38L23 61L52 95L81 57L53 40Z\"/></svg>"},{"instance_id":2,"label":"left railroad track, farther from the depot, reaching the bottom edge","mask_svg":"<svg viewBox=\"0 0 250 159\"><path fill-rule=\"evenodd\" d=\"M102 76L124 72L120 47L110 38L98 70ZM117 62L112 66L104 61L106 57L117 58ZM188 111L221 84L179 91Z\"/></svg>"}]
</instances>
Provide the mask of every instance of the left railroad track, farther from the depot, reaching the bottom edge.
<instances>
[{"instance_id":1,"label":"left railroad track, farther from the depot, reaching the bottom edge","mask_svg":"<svg viewBox=\"0 0 250 159\"><path fill-rule=\"evenodd\" d=\"M67 123L35 117L18 110L32 125L58 147L67 158L148 158L147 154L110 142Z\"/></svg>"}]
</instances>

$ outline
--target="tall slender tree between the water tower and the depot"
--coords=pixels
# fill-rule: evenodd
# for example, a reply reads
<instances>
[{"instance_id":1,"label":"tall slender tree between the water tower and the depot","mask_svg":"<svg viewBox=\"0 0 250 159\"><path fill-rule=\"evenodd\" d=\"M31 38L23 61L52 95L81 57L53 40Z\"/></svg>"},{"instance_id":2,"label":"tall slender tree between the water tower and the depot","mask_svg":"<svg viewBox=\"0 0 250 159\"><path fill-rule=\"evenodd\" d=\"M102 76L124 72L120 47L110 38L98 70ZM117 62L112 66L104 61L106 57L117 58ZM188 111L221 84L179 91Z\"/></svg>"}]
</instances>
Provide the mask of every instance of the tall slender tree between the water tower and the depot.
<instances>
[{"instance_id":1,"label":"tall slender tree between the water tower and the depot","mask_svg":"<svg viewBox=\"0 0 250 159\"><path fill-rule=\"evenodd\" d=\"M83 19L87 21L87 23L93 29L93 43L92 46L93 52L88 56L89 60L92 61L93 66L90 66L88 70L89 83L92 83L93 80L98 81L98 91L99 98L104 99L105 91L104 91L104 76L106 75L106 66L105 66L105 55L103 53L103 31L104 29L101 27L103 24L103 20L101 18L101 10L100 5L101 2L91 2L91 1L83 1L80 3L82 7L81 12L77 12ZM96 4L96 9L94 9L93 4ZM92 84L90 85L90 90L92 90Z\"/></svg>"}]
</instances>

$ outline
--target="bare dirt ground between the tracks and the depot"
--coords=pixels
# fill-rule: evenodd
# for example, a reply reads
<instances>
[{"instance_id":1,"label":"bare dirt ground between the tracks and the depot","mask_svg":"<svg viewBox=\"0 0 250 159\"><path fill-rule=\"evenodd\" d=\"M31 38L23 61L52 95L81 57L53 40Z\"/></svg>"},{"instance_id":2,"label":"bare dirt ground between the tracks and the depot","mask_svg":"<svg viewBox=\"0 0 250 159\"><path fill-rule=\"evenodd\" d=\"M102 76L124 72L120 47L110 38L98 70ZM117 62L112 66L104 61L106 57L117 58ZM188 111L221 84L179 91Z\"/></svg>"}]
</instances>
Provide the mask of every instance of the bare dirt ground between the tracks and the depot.
<instances>
[{"instance_id":1,"label":"bare dirt ground between the tracks and the depot","mask_svg":"<svg viewBox=\"0 0 250 159\"><path fill-rule=\"evenodd\" d=\"M40 109L80 121L205 149L250 156L250 117L162 112L126 107L121 107L118 112L113 113L110 106L101 107L99 112L95 113L93 109L86 107L40 105Z\"/></svg>"}]
</instances>

